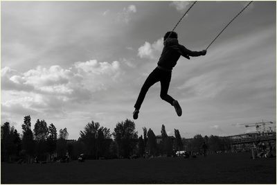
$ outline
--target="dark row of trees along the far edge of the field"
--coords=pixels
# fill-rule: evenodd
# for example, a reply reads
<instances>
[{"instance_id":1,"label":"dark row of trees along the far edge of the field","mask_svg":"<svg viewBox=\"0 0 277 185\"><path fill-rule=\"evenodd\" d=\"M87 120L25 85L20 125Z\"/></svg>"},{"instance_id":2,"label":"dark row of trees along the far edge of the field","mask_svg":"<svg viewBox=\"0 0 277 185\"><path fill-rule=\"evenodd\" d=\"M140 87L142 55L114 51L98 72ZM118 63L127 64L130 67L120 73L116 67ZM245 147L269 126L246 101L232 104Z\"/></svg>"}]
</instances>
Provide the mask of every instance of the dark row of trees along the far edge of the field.
<instances>
[{"instance_id":1,"label":"dark row of trees along the far edge of the field","mask_svg":"<svg viewBox=\"0 0 277 185\"><path fill-rule=\"evenodd\" d=\"M65 155L77 159L84 154L87 159L114 159L129 157L172 156L177 150L202 152L205 142L210 151L230 150L229 141L218 136L197 134L193 139L182 139L179 130L175 136L168 136L162 125L161 135L156 136L151 129L143 127L143 135L138 136L135 123L129 119L116 124L111 132L100 123L87 123L80 131L78 140L68 140L66 128L57 133L53 123L37 119L31 130L30 116L24 117L22 134L10 123L1 125L1 161L39 161L60 159Z\"/></svg>"}]
</instances>

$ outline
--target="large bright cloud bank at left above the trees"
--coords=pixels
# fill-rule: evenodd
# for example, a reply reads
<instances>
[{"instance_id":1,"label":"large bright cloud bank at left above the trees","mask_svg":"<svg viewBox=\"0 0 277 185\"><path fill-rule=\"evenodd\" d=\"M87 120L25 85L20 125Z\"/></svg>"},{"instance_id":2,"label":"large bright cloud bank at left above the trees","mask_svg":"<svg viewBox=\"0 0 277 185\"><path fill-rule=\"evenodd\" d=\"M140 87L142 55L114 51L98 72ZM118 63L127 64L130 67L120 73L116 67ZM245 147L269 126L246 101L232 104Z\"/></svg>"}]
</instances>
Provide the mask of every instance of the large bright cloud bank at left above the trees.
<instances>
[{"instance_id":1,"label":"large bright cloud bank at left above the trees","mask_svg":"<svg viewBox=\"0 0 277 185\"><path fill-rule=\"evenodd\" d=\"M24 73L4 67L1 69L2 91L12 91L19 98L2 102L2 111L62 114L64 105L87 103L94 92L116 85L122 74L118 61L89 60L75 62L69 69L55 65Z\"/></svg>"}]
</instances>

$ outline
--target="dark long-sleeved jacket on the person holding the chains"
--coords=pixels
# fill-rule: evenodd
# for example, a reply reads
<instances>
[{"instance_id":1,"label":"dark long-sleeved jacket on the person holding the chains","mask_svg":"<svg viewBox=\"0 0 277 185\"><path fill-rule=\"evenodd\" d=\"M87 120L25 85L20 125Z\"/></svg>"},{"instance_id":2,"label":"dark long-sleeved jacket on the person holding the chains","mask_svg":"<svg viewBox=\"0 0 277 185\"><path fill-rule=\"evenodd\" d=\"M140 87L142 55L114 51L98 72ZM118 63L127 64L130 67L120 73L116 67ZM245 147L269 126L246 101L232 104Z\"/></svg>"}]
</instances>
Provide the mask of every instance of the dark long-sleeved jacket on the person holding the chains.
<instances>
[{"instance_id":1,"label":"dark long-sleeved jacket on the person holding the chains","mask_svg":"<svg viewBox=\"0 0 277 185\"><path fill-rule=\"evenodd\" d=\"M197 57L204 55L202 51L190 51L185 46L178 43L178 39L168 38L163 42L163 51L158 62L158 66L167 70L172 70L177 64L180 56L190 59L190 56Z\"/></svg>"}]
</instances>

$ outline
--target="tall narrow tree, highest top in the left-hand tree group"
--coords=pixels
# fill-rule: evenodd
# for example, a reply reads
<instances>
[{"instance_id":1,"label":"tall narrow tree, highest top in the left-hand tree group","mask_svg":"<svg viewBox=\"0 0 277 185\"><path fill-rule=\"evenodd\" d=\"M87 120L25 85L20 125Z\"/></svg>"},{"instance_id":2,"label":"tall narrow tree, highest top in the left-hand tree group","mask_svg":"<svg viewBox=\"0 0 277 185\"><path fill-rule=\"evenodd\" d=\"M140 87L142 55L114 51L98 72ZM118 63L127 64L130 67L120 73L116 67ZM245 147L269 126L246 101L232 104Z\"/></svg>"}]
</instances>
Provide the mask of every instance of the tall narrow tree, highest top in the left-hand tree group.
<instances>
[{"instance_id":1,"label":"tall narrow tree, highest top in the left-hand tree group","mask_svg":"<svg viewBox=\"0 0 277 185\"><path fill-rule=\"evenodd\" d=\"M24 117L24 123L22 124L23 136L22 136L22 149L25 150L28 157L28 162L30 161L30 156L33 155L35 150L33 132L30 129L30 115Z\"/></svg>"}]
</instances>

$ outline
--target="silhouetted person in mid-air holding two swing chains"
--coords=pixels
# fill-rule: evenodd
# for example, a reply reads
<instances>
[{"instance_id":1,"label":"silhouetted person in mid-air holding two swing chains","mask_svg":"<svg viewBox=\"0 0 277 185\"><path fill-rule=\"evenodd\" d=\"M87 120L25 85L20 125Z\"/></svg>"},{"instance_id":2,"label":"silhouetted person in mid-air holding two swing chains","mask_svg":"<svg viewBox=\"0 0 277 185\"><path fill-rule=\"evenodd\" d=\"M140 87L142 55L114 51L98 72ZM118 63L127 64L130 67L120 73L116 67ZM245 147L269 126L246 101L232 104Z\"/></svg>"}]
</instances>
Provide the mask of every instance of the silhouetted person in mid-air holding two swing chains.
<instances>
[{"instance_id":1,"label":"silhouetted person in mid-air holding two swing chains","mask_svg":"<svg viewBox=\"0 0 277 185\"><path fill-rule=\"evenodd\" d=\"M180 56L187 58L197 57L201 55L206 55L206 50L203 51L190 51L186 49L185 46L178 43L178 35L174 31L168 31L163 37L163 51L161 57L159 58L158 66L150 73L148 78L145 80L143 87L134 105L133 118L137 119L139 117L139 109L148 92L148 89L156 82L161 82L161 99L170 103L175 108L178 116L181 116L182 110L177 100L168 95L168 88L171 80L171 73L173 67L177 64Z\"/></svg>"}]
</instances>

